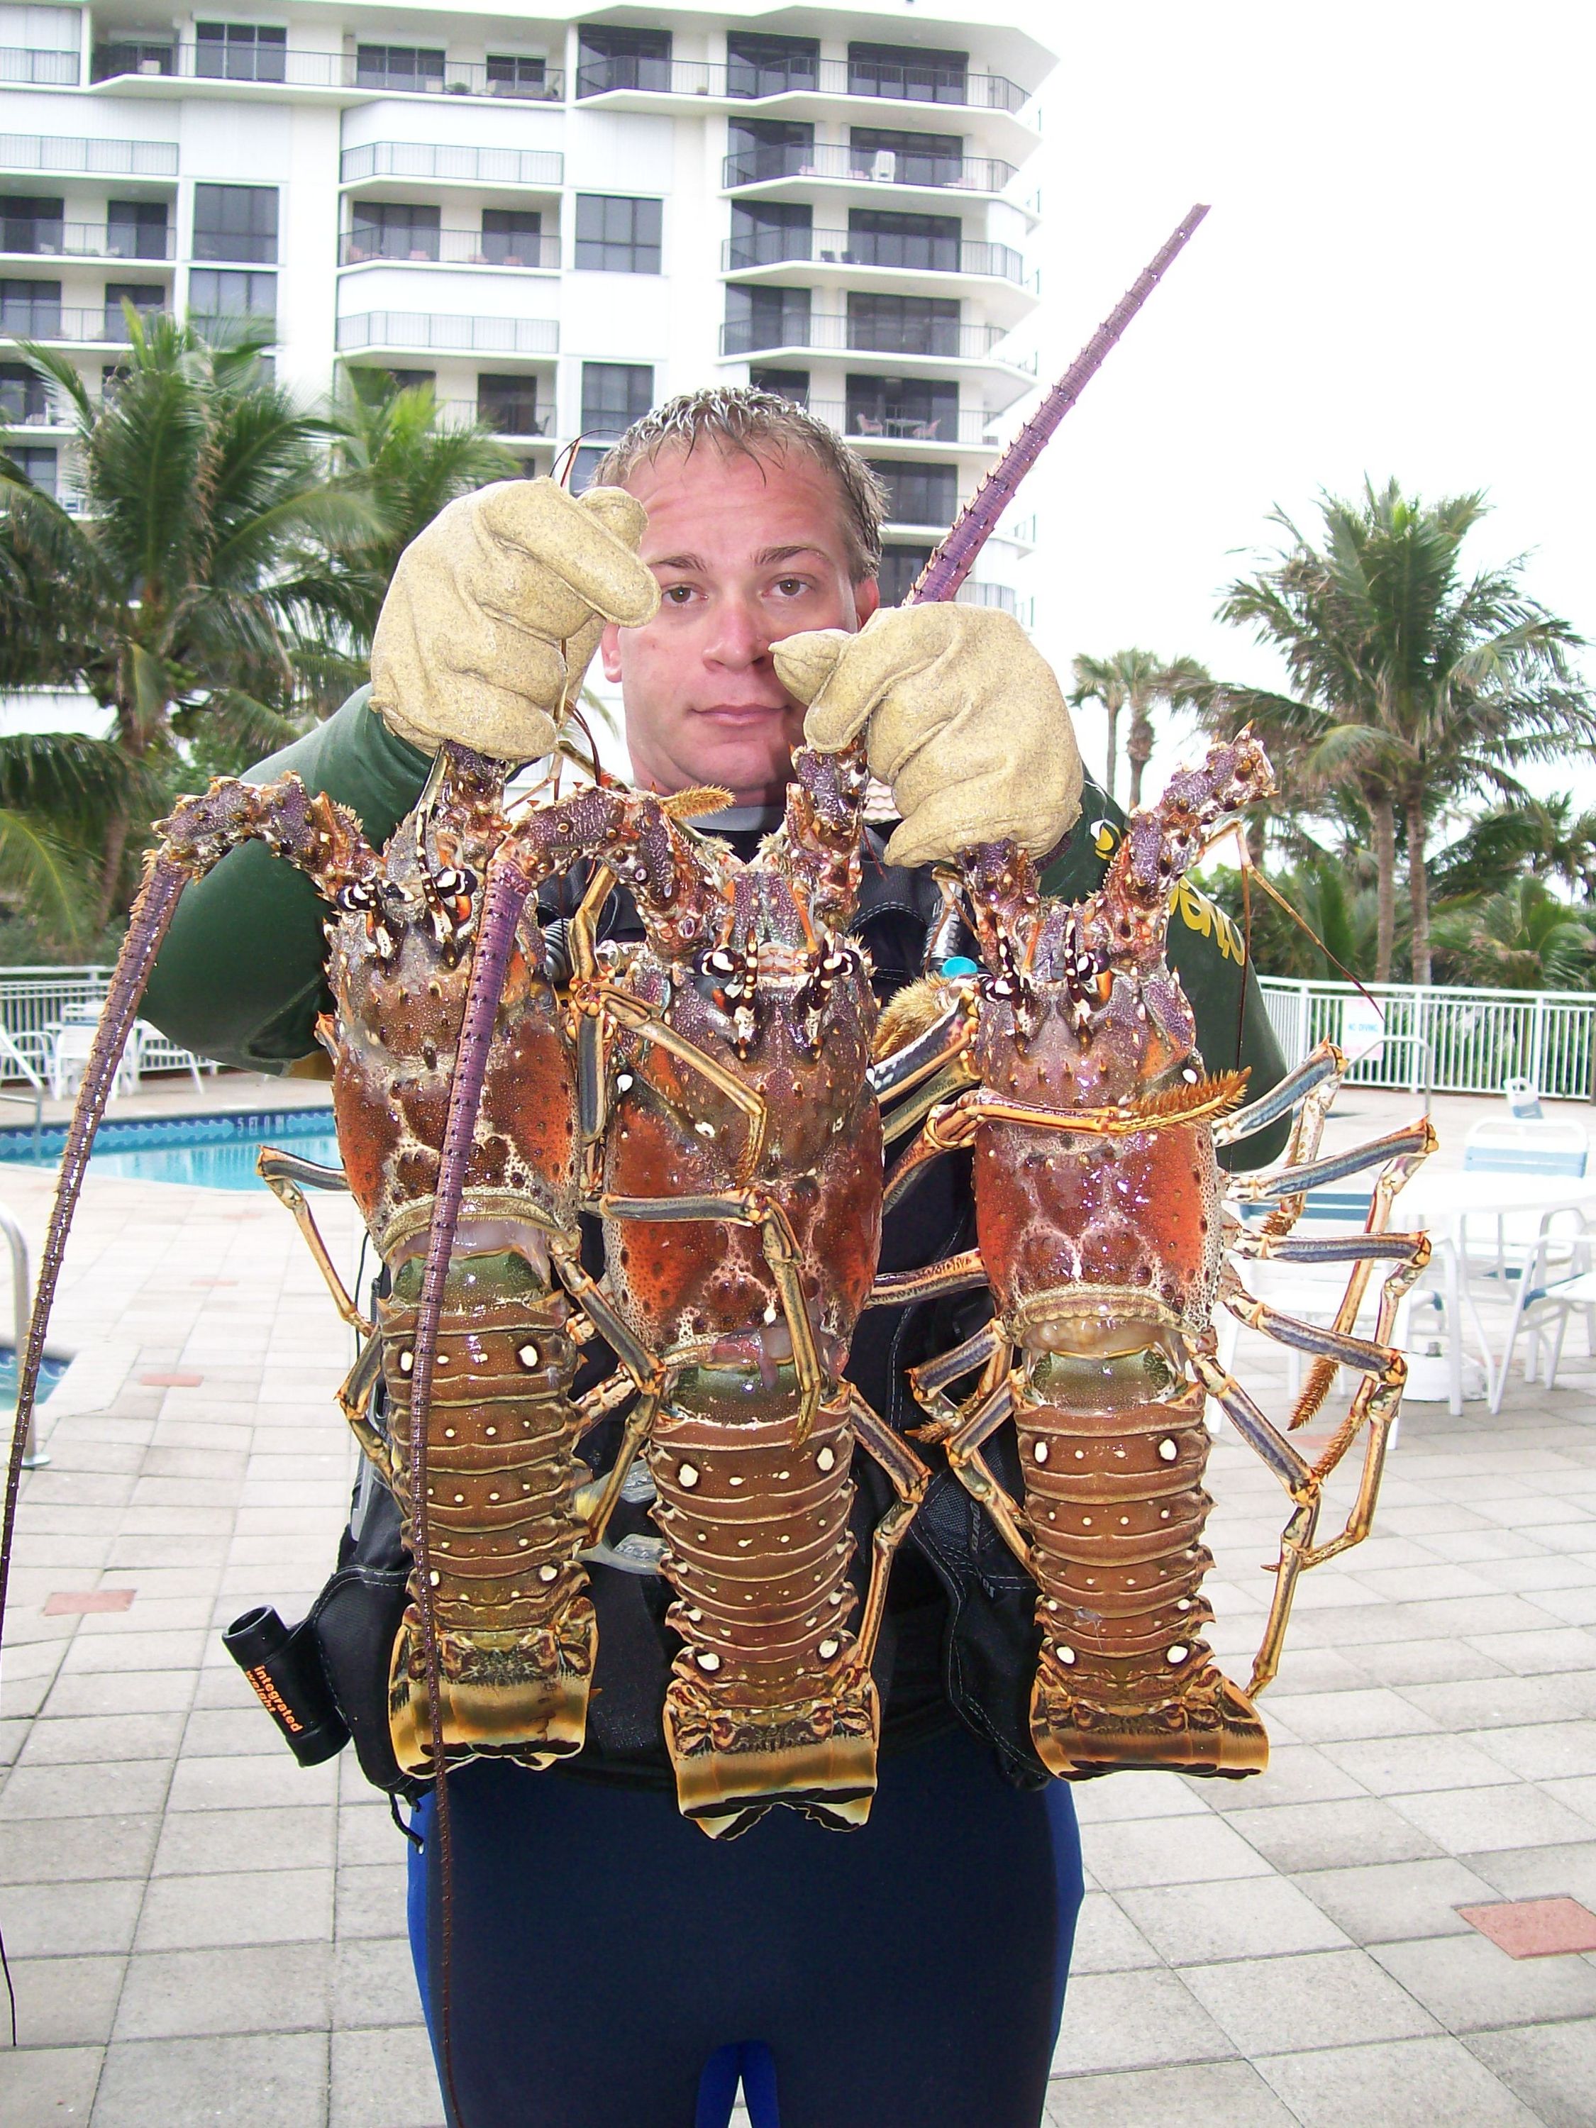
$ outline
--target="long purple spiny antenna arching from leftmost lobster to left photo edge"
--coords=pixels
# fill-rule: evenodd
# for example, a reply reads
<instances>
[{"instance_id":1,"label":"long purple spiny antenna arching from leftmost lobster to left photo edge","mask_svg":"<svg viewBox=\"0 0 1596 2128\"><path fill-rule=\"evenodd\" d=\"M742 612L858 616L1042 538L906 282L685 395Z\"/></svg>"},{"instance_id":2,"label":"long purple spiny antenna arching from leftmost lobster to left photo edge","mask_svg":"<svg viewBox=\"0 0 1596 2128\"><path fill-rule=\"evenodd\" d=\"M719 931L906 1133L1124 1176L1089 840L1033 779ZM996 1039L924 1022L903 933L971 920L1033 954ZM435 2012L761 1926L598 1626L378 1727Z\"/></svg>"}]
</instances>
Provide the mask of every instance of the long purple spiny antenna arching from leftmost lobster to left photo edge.
<instances>
[{"instance_id":1,"label":"long purple spiny antenna arching from leftmost lobster to left photo edge","mask_svg":"<svg viewBox=\"0 0 1596 2128\"><path fill-rule=\"evenodd\" d=\"M72 1121L66 1130L55 1204L51 1207L45 1253L38 1264L38 1287L34 1292L28 1345L17 1381L17 1417L6 1464L4 1517L0 1519L0 1626L4 1624L11 1579L11 1541L17 1522L21 1458L38 1398L38 1368L45 1358L45 1339L62 1275L66 1236L83 1190L83 1173L94 1149L94 1134L111 1098L117 1062L138 1017L149 972L155 966L155 955L162 949L177 902L189 881L204 879L230 849L251 838L264 841L300 870L311 872L319 883L326 881L328 885L343 883L351 868L358 868L362 858L370 855L353 817L332 807L328 798L309 798L304 785L294 775L264 785L221 777L202 796L179 798L168 819L160 821L155 832L162 841L147 860L145 881L128 917L128 936L117 953L117 966L100 1011L83 1085L79 1087Z\"/></svg>"}]
</instances>

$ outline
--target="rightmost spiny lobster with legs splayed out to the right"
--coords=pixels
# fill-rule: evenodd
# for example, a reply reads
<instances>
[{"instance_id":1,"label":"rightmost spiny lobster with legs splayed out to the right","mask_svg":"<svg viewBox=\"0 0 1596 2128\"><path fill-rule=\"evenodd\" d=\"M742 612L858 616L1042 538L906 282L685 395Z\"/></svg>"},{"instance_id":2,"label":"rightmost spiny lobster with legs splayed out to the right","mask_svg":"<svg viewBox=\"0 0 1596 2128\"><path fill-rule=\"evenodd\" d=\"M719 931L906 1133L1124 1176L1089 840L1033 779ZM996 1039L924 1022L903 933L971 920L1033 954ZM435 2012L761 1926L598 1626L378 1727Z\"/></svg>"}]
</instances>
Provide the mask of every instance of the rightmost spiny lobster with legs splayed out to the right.
<instances>
[{"instance_id":1,"label":"rightmost spiny lobster with legs splayed out to the right","mask_svg":"<svg viewBox=\"0 0 1596 2128\"><path fill-rule=\"evenodd\" d=\"M883 1277L875 1302L987 1283L992 1324L911 1373L947 1458L1034 1577L1041 1653L1030 1728L1064 1777L1126 1766L1245 1775L1266 1764L1249 1692L1275 1675L1298 1575L1368 1532L1385 1439L1407 1362L1390 1347L1396 1304L1428 1260L1422 1234L1387 1234L1390 1202L1434 1136L1428 1124L1315 1162L1341 1077L1328 1045L1247 1109L1245 1077L1207 1077L1192 1009L1164 960L1170 894L1209 830L1273 789L1251 738L1209 751L1173 779L1158 807L1132 813L1107 879L1083 904L1041 894L1013 843L960 853L949 904L970 911L983 968L972 979L904 992L883 1021L883 1094L924 1081L887 1124L919 1136L898 1162L887 1202L928 1160L975 1149L979 1247L930 1273ZM962 1083L962 1092L958 1092ZM953 1098L947 1098L953 1096ZM1215 1147L1298 1109L1283 1166L1230 1183L1232 1202L1279 1211L1245 1228L1226 1204ZM1304 1194L1379 1168L1368 1226L1345 1238L1298 1238ZM1226 1253L1347 1262L1330 1328L1253 1300ZM1373 1339L1353 1334L1375 1262L1390 1264ZM1317 1464L1268 1424L1219 1366L1215 1302L1256 1330L1315 1356L1292 1417L1324 1402L1336 1366L1362 1383ZM979 1373L964 1404L949 1390ZM1275 1600L1249 1692L1211 1660L1213 1611L1202 1579L1209 1496L1204 1404L1234 1419L1292 1496ZM1024 1500L983 1447L1011 1417ZM1368 1430L1347 1528L1315 1543L1324 1481Z\"/></svg>"}]
</instances>

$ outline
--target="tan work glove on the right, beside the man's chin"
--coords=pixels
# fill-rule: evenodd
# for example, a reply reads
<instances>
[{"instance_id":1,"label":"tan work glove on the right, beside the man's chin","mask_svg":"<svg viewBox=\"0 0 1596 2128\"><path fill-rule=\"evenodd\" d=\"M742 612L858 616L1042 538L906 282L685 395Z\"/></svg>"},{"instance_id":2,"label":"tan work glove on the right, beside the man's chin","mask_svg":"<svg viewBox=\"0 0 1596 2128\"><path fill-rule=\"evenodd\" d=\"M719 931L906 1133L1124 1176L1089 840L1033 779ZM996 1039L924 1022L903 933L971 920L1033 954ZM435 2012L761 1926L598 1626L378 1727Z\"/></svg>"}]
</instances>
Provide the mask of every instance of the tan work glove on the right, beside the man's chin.
<instances>
[{"instance_id":1,"label":"tan work glove on the right, beside the man's chin","mask_svg":"<svg viewBox=\"0 0 1596 2128\"><path fill-rule=\"evenodd\" d=\"M936 864L1013 838L1043 858L1081 811L1081 751L1053 668L1009 613L898 606L855 634L817 628L770 647L809 704L821 753L866 734L900 826L887 864Z\"/></svg>"}]
</instances>

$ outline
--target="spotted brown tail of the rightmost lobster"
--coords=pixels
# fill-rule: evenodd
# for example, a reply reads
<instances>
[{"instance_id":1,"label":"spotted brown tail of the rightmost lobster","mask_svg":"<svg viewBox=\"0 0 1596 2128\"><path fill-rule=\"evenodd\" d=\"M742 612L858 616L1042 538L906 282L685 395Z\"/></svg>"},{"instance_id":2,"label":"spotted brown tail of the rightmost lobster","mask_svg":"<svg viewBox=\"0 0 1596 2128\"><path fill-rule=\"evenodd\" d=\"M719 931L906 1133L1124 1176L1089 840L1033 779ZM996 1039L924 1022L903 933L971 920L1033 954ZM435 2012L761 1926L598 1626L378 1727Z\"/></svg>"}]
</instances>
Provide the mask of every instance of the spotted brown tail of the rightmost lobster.
<instances>
[{"instance_id":1,"label":"spotted brown tail of the rightmost lobster","mask_svg":"<svg viewBox=\"0 0 1596 2128\"><path fill-rule=\"evenodd\" d=\"M1049 1362L1034 1364L1045 1390ZM1043 1645L1030 1732L1049 1773L1228 1775L1268 1764L1264 1724L1202 1628L1207 1392L1100 1415L1015 1404Z\"/></svg>"}]
</instances>

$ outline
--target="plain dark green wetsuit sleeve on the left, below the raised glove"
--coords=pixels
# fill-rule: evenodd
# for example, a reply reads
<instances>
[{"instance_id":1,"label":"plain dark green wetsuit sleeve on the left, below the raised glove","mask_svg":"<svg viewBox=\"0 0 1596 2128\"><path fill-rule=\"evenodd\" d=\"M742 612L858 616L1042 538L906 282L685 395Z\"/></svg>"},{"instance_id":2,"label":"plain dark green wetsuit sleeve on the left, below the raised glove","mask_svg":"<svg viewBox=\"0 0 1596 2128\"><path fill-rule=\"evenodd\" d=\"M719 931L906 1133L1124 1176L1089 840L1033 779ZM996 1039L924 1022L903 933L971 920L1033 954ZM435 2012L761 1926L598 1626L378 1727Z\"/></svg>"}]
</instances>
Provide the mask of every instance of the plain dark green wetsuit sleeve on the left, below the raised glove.
<instances>
[{"instance_id":1,"label":"plain dark green wetsuit sleeve on the left, below the raised glove","mask_svg":"<svg viewBox=\"0 0 1596 2128\"><path fill-rule=\"evenodd\" d=\"M247 770L268 783L296 770L347 804L379 849L421 796L430 760L396 738L360 687L326 724ZM149 979L147 1019L200 1055L281 1073L315 1051L326 987L328 907L264 843L243 843L177 904Z\"/></svg>"}]
</instances>

